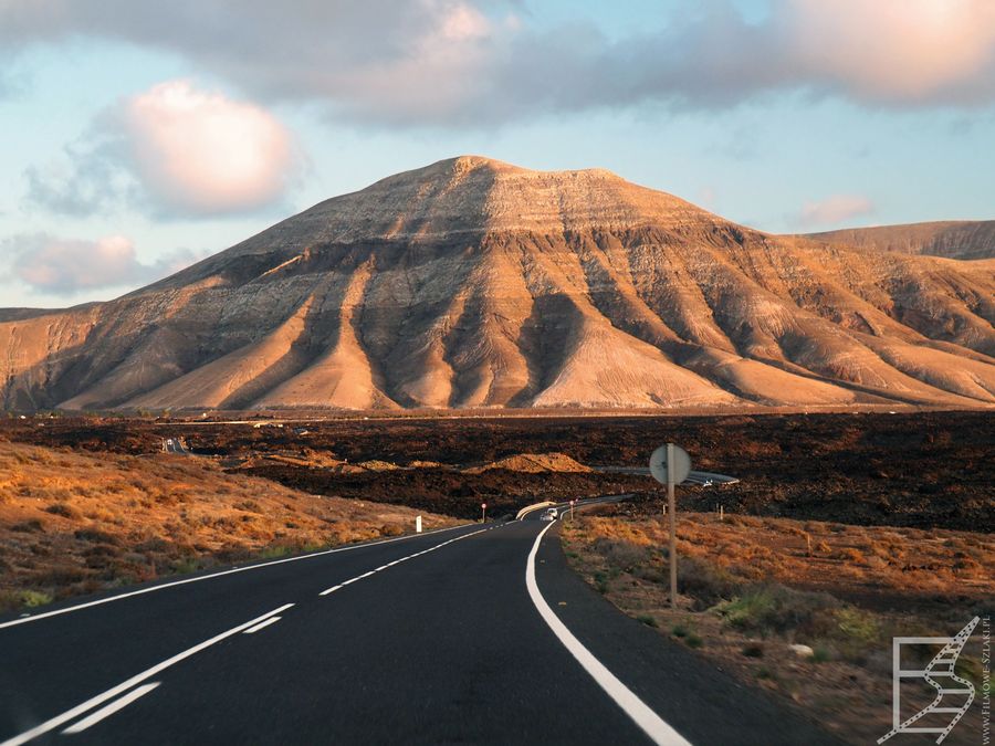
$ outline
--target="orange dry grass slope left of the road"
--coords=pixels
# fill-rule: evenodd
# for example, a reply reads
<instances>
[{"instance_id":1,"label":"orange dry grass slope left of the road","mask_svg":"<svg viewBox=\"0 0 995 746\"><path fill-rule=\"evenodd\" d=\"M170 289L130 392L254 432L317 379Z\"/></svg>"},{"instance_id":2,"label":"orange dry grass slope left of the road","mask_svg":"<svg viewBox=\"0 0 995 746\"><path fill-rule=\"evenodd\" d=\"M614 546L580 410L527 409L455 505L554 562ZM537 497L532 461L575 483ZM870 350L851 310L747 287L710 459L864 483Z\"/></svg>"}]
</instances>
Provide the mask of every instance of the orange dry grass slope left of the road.
<instances>
[{"instance_id":1,"label":"orange dry grass slope left of the road","mask_svg":"<svg viewBox=\"0 0 995 746\"><path fill-rule=\"evenodd\" d=\"M217 563L454 524L296 492L208 460L0 442L0 611Z\"/></svg>"}]
</instances>

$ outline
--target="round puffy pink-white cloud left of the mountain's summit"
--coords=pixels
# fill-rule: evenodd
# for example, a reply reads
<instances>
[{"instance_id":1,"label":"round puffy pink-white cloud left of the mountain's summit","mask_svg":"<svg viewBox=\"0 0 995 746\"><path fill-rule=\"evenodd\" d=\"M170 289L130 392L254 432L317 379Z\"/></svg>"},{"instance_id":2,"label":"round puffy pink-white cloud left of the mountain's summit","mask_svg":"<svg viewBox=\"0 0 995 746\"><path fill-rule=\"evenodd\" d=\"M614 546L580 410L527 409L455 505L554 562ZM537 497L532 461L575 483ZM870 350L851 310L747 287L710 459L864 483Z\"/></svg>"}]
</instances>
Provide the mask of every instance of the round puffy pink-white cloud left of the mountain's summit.
<instances>
[{"instance_id":1,"label":"round puffy pink-white cloud left of the mountain's summit","mask_svg":"<svg viewBox=\"0 0 995 746\"><path fill-rule=\"evenodd\" d=\"M25 174L29 199L88 214L121 201L166 217L250 212L280 201L300 158L269 112L188 81L160 83L101 114L69 166Z\"/></svg>"}]
</instances>

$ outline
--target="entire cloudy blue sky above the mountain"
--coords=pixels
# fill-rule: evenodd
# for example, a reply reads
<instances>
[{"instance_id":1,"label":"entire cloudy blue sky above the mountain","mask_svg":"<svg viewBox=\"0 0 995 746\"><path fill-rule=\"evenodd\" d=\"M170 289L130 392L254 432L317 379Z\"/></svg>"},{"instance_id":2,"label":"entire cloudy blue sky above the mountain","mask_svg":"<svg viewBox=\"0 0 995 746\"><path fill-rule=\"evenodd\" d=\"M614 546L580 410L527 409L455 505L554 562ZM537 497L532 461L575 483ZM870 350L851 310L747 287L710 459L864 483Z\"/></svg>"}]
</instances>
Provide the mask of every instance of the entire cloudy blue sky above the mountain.
<instances>
[{"instance_id":1,"label":"entire cloudy blue sky above the mountain","mask_svg":"<svg viewBox=\"0 0 995 746\"><path fill-rule=\"evenodd\" d=\"M470 153L775 232L992 219L991 6L8 1L0 306L107 300Z\"/></svg>"}]
</instances>

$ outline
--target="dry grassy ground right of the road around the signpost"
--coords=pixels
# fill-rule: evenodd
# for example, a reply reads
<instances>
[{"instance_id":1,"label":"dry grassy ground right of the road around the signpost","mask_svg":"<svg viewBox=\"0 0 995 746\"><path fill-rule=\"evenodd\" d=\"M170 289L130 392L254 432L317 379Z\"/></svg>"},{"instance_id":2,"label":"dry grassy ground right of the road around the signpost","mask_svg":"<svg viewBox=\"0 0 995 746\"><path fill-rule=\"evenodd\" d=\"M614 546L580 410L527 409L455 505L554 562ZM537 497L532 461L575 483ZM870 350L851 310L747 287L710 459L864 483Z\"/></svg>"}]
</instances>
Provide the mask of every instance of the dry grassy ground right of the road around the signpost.
<instances>
[{"instance_id":1,"label":"dry grassy ground right of the road around the signpost","mask_svg":"<svg viewBox=\"0 0 995 746\"><path fill-rule=\"evenodd\" d=\"M620 609L799 705L852 743L890 726L891 637L952 634L995 610L986 534L685 513L671 611L662 516L578 516L572 565ZM807 644L813 658L789 645ZM974 644L974 643L972 643ZM980 644L961 656L980 684ZM975 743L974 707L945 743Z\"/></svg>"}]
</instances>

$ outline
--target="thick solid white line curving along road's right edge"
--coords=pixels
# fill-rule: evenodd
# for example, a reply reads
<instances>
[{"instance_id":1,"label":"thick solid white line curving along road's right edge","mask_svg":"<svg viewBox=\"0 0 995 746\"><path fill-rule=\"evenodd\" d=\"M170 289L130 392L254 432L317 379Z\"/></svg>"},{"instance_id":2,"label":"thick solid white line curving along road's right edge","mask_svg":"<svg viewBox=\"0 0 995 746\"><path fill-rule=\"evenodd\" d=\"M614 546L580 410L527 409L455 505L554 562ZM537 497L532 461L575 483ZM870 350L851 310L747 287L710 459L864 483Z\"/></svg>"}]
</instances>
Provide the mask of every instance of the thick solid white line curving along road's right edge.
<instances>
[{"instance_id":1,"label":"thick solid white line curving along road's right edge","mask_svg":"<svg viewBox=\"0 0 995 746\"><path fill-rule=\"evenodd\" d=\"M663 746L691 746L690 742L673 727L654 713L650 707L640 700L628 686L621 683L618 677L611 673L605 664L601 663L594 654L585 648L580 641L574 637L566 624L559 621L546 599L540 592L538 584L535 580L535 556L538 554L540 544L543 536L549 530L555 523L540 532L535 537L535 544L532 545L532 551L528 553L528 560L525 563L525 586L528 588L528 596L535 605L536 610L543 618L543 621L549 627L553 633L563 643L577 662L590 674L590 677L597 682L605 693L611 697L615 703L622 708L632 721L648 735L653 743Z\"/></svg>"}]
</instances>

